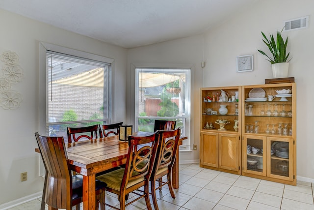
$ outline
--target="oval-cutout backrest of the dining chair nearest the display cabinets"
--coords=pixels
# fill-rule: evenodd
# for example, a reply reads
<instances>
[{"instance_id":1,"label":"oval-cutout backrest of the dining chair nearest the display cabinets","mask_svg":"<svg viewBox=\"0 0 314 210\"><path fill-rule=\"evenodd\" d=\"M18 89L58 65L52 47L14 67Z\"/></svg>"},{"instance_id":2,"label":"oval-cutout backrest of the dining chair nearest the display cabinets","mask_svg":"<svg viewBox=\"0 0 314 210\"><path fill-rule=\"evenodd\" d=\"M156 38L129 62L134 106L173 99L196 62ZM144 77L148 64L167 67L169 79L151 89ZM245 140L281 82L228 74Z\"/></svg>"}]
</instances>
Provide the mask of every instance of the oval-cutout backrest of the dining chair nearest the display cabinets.
<instances>
[{"instance_id":1,"label":"oval-cutout backrest of the dining chair nearest the display cabinets","mask_svg":"<svg viewBox=\"0 0 314 210\"><path fill-rule=\"evenodd\" d=\"M171 131L158 130L159 143L155 158L152 176L156 174L158 169L168 167L170 170L176 159L180 139L180 128Z\"/></svg>"}]
</instances>

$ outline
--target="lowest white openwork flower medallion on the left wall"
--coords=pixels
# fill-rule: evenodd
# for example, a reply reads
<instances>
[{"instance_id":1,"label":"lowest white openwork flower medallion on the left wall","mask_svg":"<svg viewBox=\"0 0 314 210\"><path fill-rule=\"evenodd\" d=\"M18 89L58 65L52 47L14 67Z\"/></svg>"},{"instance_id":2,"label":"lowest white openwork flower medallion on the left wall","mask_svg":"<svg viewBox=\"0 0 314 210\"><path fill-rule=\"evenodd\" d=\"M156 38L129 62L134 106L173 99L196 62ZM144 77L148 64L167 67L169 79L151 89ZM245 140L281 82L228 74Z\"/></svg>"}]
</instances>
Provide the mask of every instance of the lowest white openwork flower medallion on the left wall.
<instances>
[{"instance_id":1,"label":"lowest white openwork flower medallion on the left wall","mask_svg":"<svg viewBox=\"0 0 314 210\"><path fill-rule=\"evenodd\" d=\"M16 90L8 90L0 94L0 106L3 109L14 110L21 106L22 94Z\"/></svg>"}]
</instances>

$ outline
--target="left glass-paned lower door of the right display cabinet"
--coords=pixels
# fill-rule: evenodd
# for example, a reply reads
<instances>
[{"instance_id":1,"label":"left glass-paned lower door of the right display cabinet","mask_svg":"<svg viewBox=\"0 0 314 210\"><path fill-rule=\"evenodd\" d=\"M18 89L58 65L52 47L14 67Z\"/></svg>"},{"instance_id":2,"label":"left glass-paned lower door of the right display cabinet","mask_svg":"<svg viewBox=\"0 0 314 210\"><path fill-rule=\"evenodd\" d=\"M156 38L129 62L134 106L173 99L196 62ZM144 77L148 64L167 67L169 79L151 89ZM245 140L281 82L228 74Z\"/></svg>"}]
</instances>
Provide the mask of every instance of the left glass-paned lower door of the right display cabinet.
<instances>
[{"instance_id":1,"label":"left glass-paned lower door of the right display cabinet","mask_svg":"<svg viewBox=\"0 0 314 210\"><path fill-rule=\"evenodd\" d=\"M243 136L243 172L266 176L266 137Z\"/></svg>"}]
</instances>

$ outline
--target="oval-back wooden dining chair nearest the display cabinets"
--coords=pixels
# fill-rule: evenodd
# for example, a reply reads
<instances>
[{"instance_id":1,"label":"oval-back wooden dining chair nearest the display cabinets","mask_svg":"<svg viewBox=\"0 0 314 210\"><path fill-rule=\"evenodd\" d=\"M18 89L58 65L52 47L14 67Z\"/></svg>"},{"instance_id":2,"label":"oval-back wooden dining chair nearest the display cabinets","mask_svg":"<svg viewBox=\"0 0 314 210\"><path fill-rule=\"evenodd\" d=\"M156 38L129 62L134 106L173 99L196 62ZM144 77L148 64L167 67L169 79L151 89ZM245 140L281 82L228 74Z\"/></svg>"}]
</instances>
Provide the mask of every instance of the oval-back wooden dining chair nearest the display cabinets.
<instances>
[{"instance_id":1,"label":"oval-back wooden dining chair nearest the display cabinets","mask_svg":"<svg viewBox=\"0 0 314 210\"><path fill-rule=\"evenodd\" d=\"M159 144L154 162L152 175L150 177L151 193L155 210L158 210L156 190L168 184L168 188L172 198L176 195L172 187L172 167L176 159L180 139L180 128L171 131L158 130ZM163 181L162 177L167 176L167 181ZM156 181L158 186L156 187Z\"/></svg>"}]
</instances>

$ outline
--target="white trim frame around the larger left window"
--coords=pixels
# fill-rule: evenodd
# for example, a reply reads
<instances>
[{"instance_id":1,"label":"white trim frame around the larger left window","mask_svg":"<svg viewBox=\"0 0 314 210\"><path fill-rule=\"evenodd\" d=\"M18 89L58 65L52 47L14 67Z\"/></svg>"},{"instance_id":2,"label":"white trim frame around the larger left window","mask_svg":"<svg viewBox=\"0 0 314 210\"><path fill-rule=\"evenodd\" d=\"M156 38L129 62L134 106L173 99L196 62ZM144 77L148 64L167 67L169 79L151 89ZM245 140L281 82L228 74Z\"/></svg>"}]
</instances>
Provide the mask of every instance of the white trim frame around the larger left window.
<instances>
[{"instance_id":1,"label":"white trim frame around the larger left window","mask_svg":"<svg viewBox=\"0 0 314 210\"><path fill-rule=\"evenodd\" d=\"M110 59L110 58L106 58L103 56L99 56L99 55L95 55L95 54L91 54L91 53L87 53L87 52L83 52L83 51L78 51L78 50L74 50L74 49L70 49L70 48L66 48L66 47L61 47L58 45L53 45L53 44L49 44L49 43L44 43L44 42L40 42L40 46L39 46L39 98L38 98L38 104L39 104L39 132L42 135L47 135L47 129L46 129L46 125L47 125L47 118L48 118L48 103L47 103L47 96L48 96L48 77L47 77L47 70L46 70L46 66L47 66L47 60L46 60L46 51L54 51L54 52L58 52L58 53L62 53L62 54L67 54L67 55L71 55L71 56L75 56L75 57L80 57L83 59L89 59L89 60L97 60L97 61L101 61L101 62L105 62L108 64L111 64L111 81L113 80L113 74L112 71L114 69L114 60ZM110 100L110 107L111 107L111 119L114 119L113 116L113 109L114 109L114 104L113 104L113 98L112 96L114 95L113 92L113 83L111 82L109 87L108 87L108 92L109 94L111 94L111 100Z\"/></svg>"}]
</instances>

